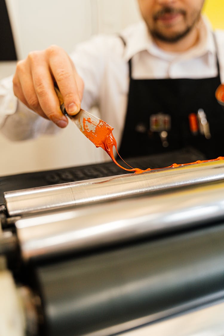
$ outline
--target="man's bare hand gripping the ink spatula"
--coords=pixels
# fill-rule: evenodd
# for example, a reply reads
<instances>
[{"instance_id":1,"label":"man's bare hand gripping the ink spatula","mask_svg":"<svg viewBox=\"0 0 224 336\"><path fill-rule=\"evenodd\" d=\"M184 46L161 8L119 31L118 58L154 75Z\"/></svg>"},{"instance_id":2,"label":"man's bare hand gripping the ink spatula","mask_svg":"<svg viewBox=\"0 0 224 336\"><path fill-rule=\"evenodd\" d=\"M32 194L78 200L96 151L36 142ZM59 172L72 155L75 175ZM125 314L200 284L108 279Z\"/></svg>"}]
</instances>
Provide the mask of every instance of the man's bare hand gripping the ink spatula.
<instances>
[{"instance_id":1,"label":"man's bare hand gripping the ink spatula","mask_svg":"<svg viewBox=\"0 0 224 336\"><path fill-rule=\"evenodd\" d=\"M77 114L83 96L83 80L68 54L57 46L33 51L25 60L19 61L13 78L13 90L28 108L59 127L65 127L68 119L60 110L54 81L62 94L66 112Z\"/></svg>"}]
</instances>

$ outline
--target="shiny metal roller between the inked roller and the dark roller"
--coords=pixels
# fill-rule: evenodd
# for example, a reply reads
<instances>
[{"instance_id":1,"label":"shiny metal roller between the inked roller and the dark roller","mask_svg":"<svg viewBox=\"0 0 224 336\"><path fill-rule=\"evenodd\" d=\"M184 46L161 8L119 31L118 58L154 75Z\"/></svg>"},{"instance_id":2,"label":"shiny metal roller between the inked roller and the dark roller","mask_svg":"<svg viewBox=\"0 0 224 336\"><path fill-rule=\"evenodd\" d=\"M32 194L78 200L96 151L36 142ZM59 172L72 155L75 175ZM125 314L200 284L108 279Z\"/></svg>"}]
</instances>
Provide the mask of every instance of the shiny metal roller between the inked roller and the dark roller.
<instances>
[{"instance_id":1,"label":"shiny metal roller between the inked roller and the dark roller","mask_svg":"<svg viewBox=\"0 0 224 336\"><path fill-rule=\"evenodd\" d=\"M30 260L223 219L224 182L217 182L22 217L15 226L22 256Z\"/></svg>"}]
</instances>

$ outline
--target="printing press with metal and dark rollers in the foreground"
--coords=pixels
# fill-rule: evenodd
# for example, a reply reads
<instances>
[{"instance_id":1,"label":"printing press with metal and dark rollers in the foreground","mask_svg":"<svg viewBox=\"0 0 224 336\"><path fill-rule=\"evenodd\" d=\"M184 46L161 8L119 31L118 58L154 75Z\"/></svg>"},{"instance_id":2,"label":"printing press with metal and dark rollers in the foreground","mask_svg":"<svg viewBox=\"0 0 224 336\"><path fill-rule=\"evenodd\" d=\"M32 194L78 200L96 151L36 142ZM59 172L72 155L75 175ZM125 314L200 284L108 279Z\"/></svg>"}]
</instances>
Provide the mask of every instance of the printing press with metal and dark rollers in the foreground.
<instances>
[{"instance_id":1,"label":"printing press with metal and dark rollers in the foreground","mask_svg":"<svg viewBox=\"0 0 224 336\"><path fill-rule=\"evenodd\" d=\"M223 160L0 177L0 335L221 335L223 179Z\"/></svg>"}]
</instances>

